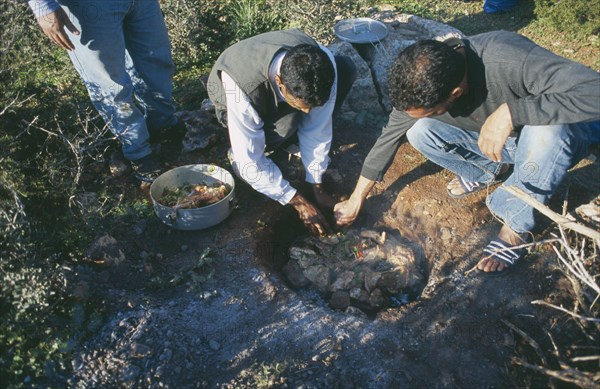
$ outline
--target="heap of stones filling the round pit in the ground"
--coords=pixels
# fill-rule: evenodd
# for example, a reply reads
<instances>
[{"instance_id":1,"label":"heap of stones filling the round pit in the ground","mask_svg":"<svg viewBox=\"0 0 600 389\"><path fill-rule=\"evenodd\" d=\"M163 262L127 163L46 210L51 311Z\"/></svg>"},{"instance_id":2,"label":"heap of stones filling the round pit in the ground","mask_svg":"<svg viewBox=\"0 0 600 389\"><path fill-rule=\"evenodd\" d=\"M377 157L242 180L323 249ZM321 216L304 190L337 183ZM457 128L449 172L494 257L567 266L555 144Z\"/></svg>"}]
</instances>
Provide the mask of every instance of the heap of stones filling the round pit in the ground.
<instances>
[{"instance_id":1,"label":"heap of stones filling the round pit in the ground","mask_svg":"<svg viewBox=\"0 0 600 389\"><path fill-rule=\"evenodd\" d=\"M305 237L289 256L283 273L290 284L317 290L334 309L377 311L404 301L425 282L412 248L386 232Z\"/></svg>"}]
</instances>

